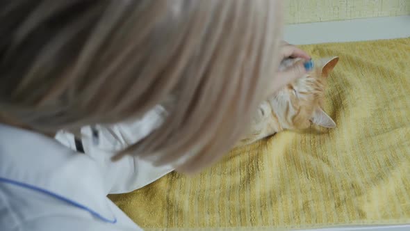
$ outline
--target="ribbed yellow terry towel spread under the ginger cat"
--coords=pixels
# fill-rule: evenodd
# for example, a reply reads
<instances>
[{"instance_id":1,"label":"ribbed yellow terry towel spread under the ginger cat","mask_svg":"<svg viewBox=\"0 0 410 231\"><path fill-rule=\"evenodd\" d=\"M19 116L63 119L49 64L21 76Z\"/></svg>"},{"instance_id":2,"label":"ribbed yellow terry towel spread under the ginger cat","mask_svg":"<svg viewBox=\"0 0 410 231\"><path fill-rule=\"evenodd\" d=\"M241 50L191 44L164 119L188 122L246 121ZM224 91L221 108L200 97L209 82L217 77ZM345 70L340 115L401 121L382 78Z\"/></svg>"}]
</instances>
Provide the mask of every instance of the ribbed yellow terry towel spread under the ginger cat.
<instances>
[{"instance_id":1,"label":"ribbed yellow terry towel spread under the ginger cat","mask_svg":"<svg viewBox=\"0 0 410 231\"><path fill-rule=\"evenodd\" d=\"M110 198L147 230L410 223L410 38L302 48L341 58L325 108L336 129L281 132Z\"/></svg>"}]
</instances>

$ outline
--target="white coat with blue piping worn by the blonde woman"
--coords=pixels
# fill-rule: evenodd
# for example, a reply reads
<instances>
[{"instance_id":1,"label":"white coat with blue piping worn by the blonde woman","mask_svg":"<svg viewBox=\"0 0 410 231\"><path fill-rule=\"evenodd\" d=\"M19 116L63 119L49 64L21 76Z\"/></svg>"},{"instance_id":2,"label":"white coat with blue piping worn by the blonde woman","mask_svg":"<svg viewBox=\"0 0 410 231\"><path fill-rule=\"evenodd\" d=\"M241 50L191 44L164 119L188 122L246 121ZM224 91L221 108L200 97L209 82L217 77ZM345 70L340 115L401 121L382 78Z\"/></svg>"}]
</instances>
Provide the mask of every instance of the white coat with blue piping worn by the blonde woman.
<instances>
[{"instance_id":1,"label":"white coat with blue piping worn by the blonde woman","mask_svg":"<svg viewBox=\"0 0 410 231\"><path fill-rule=\"evenodd\" d=\"M60 132L56 141L0 125L0 230L140 230L107 195L139 189L173 168L110 157L125 141L137 141L158 126L161 110L115 125L120 141L103 128L95 141L85 127L85 154L74 151L71 134Z\"/></svg>"}]
</instances>

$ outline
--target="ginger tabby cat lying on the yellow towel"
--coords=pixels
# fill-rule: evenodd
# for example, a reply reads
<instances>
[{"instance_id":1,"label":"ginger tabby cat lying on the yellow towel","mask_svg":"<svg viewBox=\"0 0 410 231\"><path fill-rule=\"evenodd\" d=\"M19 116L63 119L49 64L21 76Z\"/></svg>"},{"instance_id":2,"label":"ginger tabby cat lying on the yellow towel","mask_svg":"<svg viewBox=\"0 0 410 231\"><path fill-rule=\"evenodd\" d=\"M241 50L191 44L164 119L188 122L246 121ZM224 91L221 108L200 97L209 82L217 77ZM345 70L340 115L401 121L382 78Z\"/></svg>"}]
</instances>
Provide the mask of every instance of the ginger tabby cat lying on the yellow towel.
<instances>
[{"instance_id":1,"label":"ginger tabby cat lying on the yellow towel","mask_svg":"<svg viewBox=\"0 0 410 231\"><path fill-rule=\"evenodd\" d=\"M329 72L338 63L338 57L315 61L313 71L281 88L265 100L252 120L245 138L238 145L245 145L272 136L285 129L306 129L311 125L334 128L336 123L322 110ZM279 66L284 70L298 59L286 59Z\"/></svg>"}]
</instances>

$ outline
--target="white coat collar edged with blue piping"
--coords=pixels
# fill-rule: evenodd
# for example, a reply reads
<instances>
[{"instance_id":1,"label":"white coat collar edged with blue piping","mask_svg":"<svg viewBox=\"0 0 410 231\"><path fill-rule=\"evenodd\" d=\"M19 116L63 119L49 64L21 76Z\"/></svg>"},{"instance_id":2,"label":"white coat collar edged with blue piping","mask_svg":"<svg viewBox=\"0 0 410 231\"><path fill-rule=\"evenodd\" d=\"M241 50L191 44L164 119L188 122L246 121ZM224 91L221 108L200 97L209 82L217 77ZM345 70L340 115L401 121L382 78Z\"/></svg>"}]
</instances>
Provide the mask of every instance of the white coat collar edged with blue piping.
<instances>
[{"instance_id":1,"label":"white coat collar edged with blue piping","mask_svg":"<svg viewBox=\"0 0 410 231\"><path fill-rule=\"evenodd\" d=\"M0 183L44 193L115 223L101 168L52 138L0 124Z\"/></svg>"}]
</instances>

